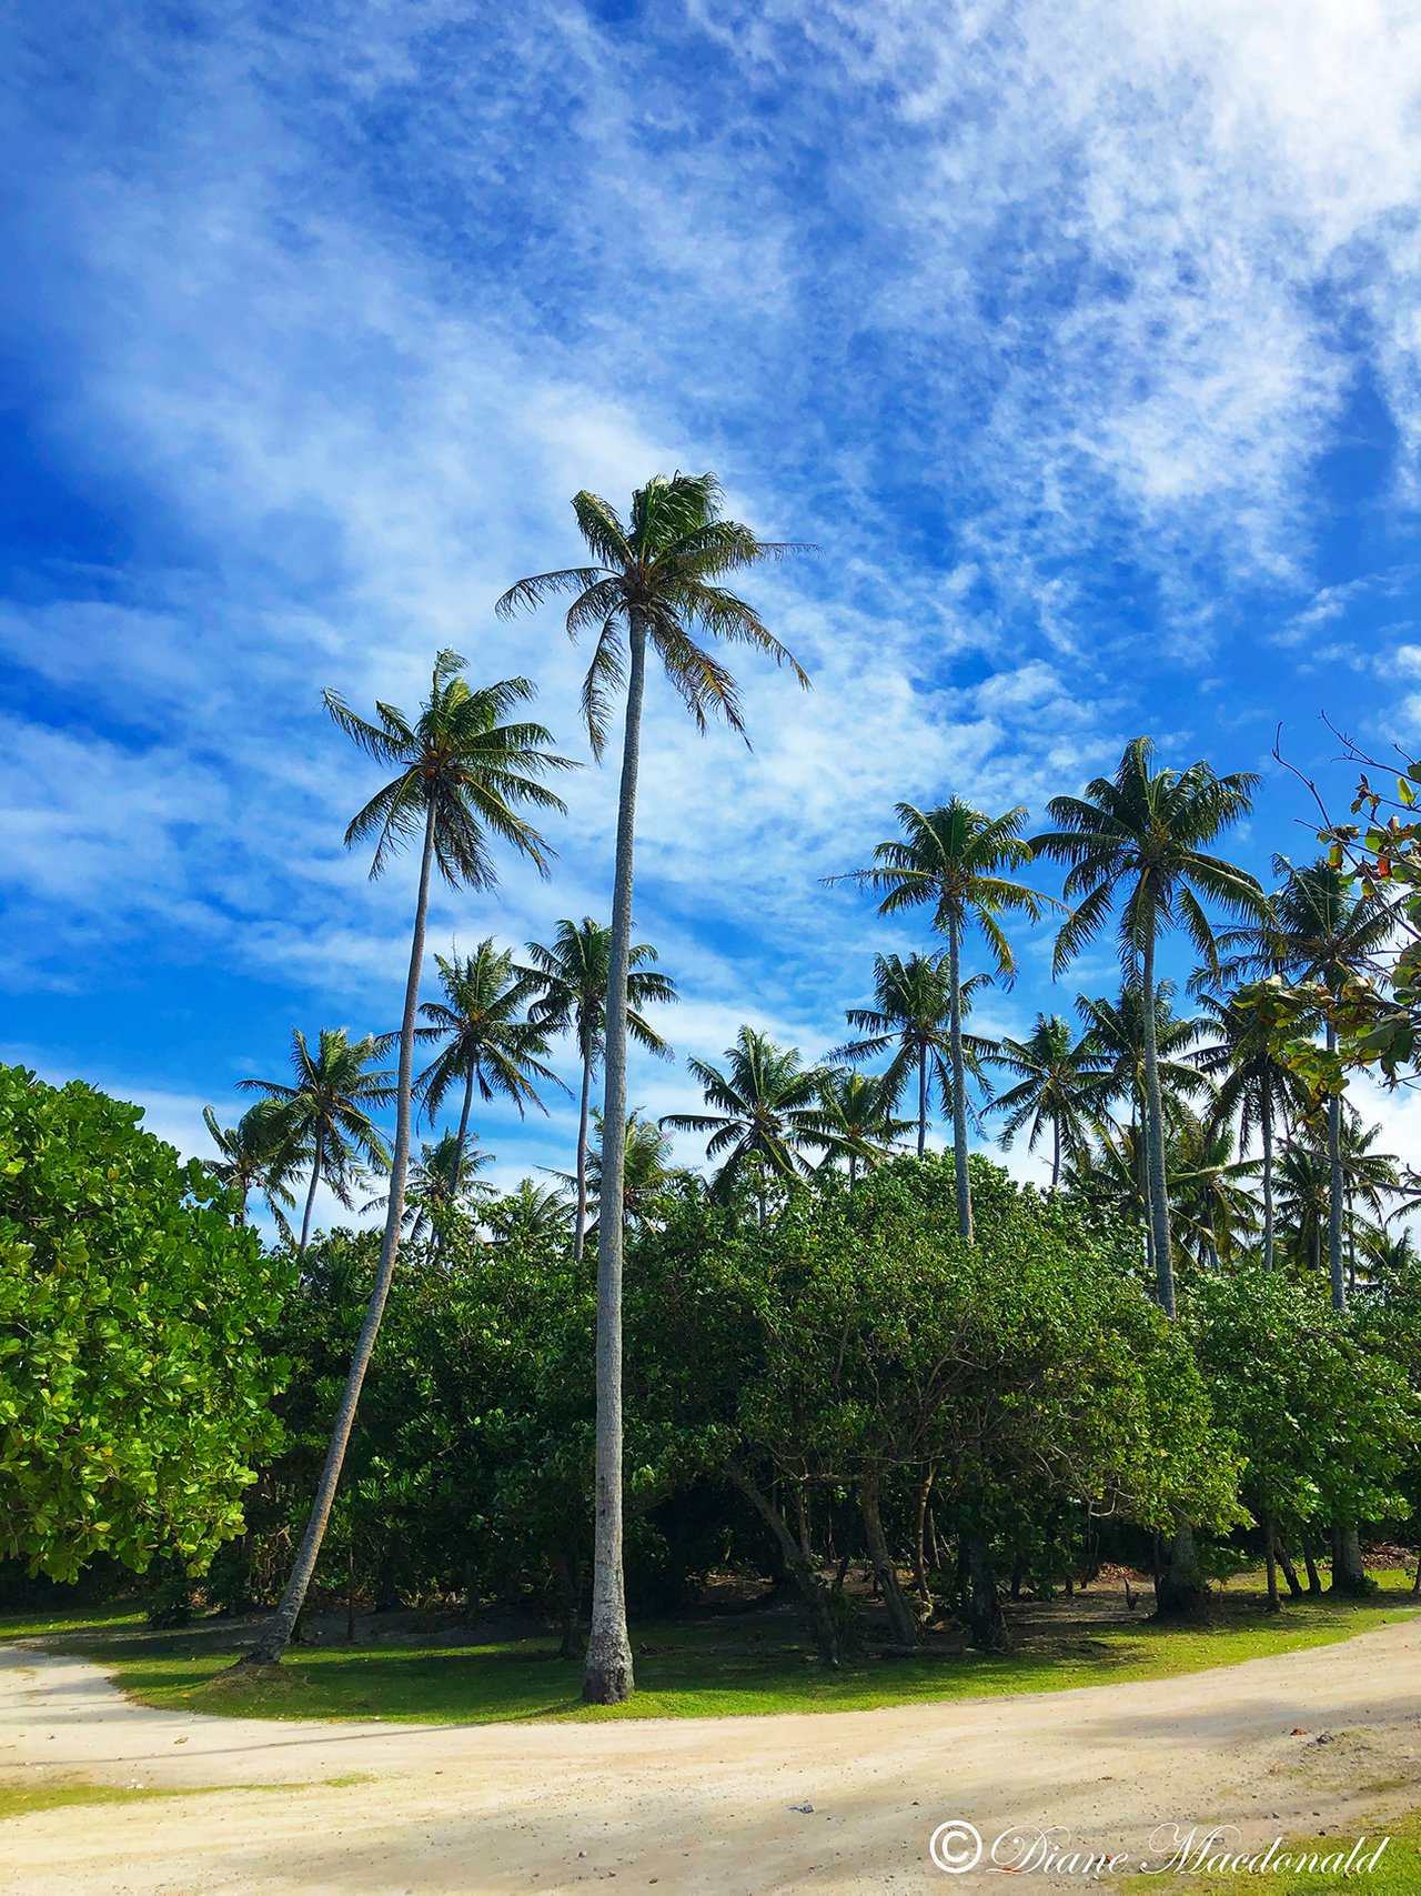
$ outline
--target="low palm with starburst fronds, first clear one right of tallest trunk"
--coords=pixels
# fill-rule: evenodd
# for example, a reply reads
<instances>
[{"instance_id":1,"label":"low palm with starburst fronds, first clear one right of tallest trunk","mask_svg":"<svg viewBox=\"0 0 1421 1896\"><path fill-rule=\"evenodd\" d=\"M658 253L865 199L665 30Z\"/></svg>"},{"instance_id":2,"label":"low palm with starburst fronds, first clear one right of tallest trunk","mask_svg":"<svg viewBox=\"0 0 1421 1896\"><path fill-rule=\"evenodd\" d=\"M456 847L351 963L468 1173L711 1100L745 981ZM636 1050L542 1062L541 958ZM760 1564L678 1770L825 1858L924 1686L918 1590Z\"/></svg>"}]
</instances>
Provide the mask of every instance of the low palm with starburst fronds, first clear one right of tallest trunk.
<instances>
[{"instance_id":1,"label":"low palm with starburst fronds, first clear one right of tallest trunk","mask_svg":"<svg viewBox=\"0 0 1421 1896\"><path fill-rule=\"evenodd\" d=\"M688 1060L710 1113L667 1113L663 1126L676 1132L709 1132L705 1157L720 1158L712 1191L754 1176L760 1223L765 1221L765 1185L771 1177L803 1179L813 1166L811 1147L832 1147L836 1134L824 1113L824 1069L807 1067L798 1047L777 1047L767 1033L741 1028L726 1048L726 1071L705 1060Z\"/></svg>"}]
</instances>

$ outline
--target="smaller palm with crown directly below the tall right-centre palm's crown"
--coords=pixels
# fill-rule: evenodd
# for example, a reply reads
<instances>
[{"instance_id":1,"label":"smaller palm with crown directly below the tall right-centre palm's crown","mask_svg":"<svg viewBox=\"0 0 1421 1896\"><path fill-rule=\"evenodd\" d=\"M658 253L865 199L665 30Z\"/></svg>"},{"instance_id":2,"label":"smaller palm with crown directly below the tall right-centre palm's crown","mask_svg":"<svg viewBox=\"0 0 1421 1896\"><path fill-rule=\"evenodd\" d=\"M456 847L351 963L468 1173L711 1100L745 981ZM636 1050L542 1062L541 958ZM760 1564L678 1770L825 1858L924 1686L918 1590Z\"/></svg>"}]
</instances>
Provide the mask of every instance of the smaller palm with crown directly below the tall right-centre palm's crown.
<instances>
[{"instance_id":1,"label":"smaller palm with crown directly below the tall right-centre palm's crown","mask_svg":"<svg viewBox=\"0 0 1421 1896\"><path fill-rule=\"evenodd\" d=\"M972 994L985 980L974 975L962 984L961 1011L972 1011ZM849 1007L845 1020L860 1030L860 1039L845 1041L830 1060L877 1060L896 1048L883 1075L894 1105L909 1079L917 1083L917 1157L928 1143L928 1107L936 1085L944 1111L953 1109L953 1007L947 992L945 956L873 956L873 1007ZM981 1062L993 1043L976 1033L962 1035L962 1062L972 1079L981 1079Z\"/></svg>"}]
</instances>

